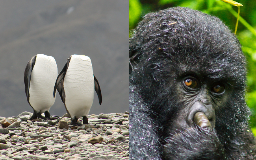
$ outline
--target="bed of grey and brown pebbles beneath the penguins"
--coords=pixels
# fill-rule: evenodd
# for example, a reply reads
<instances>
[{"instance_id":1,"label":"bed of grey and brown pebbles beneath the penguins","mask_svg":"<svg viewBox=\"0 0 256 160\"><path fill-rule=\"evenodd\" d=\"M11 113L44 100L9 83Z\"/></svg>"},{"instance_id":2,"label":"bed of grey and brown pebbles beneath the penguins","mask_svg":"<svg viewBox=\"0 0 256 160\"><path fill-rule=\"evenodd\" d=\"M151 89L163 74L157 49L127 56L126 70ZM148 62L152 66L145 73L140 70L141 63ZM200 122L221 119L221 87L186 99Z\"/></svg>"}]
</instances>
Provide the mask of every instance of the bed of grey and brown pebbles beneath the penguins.
<instances>
[{"instance_id":1,"label":"bed of grey and brown pebbles beneath the penguins","mask_svg":"<svg viewBox=\"0 0 256 160\"><path fill-rule=\"evenodd\" d=\"M0 160L129 159L128 112L91 114L82 126L69 126L67 114L46 121L31 116L0 117Z\"/></svg>"}]
</instances>

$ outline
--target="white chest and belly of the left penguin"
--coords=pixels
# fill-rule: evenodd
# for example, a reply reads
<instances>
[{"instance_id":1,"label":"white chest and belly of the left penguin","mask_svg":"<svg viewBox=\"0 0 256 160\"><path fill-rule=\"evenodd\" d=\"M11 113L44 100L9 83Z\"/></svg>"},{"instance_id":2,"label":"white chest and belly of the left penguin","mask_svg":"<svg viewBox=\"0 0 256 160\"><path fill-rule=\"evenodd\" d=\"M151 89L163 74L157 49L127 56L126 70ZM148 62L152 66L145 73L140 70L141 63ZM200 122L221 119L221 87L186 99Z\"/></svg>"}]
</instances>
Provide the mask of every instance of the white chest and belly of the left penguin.
<instances>
[{"instance_id":1,"label":"white chest and belly of the left penguin","mask_svg":"<svg viewBox=\"0 0 256 160\"><path fill-rule=\"evenodd\" d=\"M30 104L35 110L51 107L55 98L52 95L54 84L58 76L55 59L50 56L38 54L31 72Z\"/></svg>"}]
</instances>

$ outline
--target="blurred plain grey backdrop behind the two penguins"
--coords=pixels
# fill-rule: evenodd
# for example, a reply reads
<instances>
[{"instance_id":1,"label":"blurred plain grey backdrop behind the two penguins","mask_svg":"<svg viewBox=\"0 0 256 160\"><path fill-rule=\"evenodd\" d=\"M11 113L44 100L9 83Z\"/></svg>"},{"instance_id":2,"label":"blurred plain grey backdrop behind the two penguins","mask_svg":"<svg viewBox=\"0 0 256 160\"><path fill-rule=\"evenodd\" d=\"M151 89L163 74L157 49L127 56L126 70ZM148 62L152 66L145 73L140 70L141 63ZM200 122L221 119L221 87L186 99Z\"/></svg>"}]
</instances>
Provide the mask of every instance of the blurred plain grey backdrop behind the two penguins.
<instances>
[{"instance_id":1,"label":"blurred plain grey backdrop behind the two penguins","mask_svg":"<svg viewBox=\"0 0 256 160\"><path fill-rule=\"evenodd\" d=\"M89 114L128 111L128 0L0 0L0 116L33 112L26 100L24 70L38 53L91 58L102 91ZM51 115L66 113L56 93Z\"/></svg>"}]
</instances>

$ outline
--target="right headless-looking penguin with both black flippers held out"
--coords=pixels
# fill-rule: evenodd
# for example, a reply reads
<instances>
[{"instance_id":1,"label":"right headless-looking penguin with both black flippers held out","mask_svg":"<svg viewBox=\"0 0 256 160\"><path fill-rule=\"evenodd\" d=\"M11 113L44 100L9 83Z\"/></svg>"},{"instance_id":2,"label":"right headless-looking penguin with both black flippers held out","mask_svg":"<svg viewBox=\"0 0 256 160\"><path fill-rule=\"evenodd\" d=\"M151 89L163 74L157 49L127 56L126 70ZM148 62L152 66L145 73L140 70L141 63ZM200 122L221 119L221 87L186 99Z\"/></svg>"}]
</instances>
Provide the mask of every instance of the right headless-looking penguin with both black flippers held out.
<instances>
[{"instance_id":1,"label":"right headless-looking penguin with both black flippers held out","mask_svg":"<svg viewBox=\"0 0 256 160\"><path fill-rule=\"evenodd\" d=\"M93 74L91 59L85 55L71 55L59 73L54 85L53 97L58 90L62 102L71 118L70 125L83 117L83 124L88 124L88 114L93 104L94 90L99 103L102 103L100 85Z\"/></svg>"}]
</instances>

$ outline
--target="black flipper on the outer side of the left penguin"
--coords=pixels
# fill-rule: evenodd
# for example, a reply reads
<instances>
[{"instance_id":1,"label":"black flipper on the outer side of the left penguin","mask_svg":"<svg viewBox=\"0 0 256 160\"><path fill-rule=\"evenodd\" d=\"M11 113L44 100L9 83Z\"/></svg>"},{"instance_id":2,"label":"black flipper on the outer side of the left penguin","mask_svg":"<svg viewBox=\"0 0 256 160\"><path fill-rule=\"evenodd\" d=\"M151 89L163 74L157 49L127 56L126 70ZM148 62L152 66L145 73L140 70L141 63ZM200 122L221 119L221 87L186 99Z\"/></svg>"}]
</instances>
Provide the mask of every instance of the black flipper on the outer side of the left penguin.
<instances>
[{"instance_id":1,"label":"black flipper on the outer side of the left penguin","mask_svg":"<svg viewBox=\"0 0 256 160\"><path fill-rule=\"evenodd\" d=\"M29 88L30 88L30 80L31 80L31 73L35 65L35 60L37 58L37 55L34 55L29 61L26 66L25 72L24 72L24 83L25 83L25 92L27 96L27 100L29 103Z\"/></svg>"}]
</instances>

